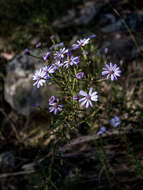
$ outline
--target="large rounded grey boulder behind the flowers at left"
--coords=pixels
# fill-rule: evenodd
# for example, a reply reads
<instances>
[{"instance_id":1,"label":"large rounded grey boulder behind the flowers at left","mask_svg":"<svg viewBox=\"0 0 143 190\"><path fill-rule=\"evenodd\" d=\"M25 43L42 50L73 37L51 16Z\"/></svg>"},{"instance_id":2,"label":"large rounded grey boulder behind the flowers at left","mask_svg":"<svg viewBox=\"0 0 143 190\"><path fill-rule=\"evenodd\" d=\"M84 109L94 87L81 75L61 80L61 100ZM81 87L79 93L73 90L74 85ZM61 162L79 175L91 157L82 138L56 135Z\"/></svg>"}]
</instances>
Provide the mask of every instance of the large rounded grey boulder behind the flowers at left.
<instances>
[{"instance_id":1,"label":"large rounded grey boulder behind the flowers at left","mask_svg":"<svg viewBox=\"0 0 143 190\"><path fill-rule=\"evenodd\" d=\"M33 50L32 54L42 56L39 49ZM47 99L55 87L45 85L37 89L32 80L35 70L42 66L42 60L21 53L7 67L4 97L19 114L28 116L35 110L35 104L40 104L43 108L48 105Z\"/></svg>"}]
</instances>

